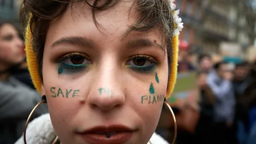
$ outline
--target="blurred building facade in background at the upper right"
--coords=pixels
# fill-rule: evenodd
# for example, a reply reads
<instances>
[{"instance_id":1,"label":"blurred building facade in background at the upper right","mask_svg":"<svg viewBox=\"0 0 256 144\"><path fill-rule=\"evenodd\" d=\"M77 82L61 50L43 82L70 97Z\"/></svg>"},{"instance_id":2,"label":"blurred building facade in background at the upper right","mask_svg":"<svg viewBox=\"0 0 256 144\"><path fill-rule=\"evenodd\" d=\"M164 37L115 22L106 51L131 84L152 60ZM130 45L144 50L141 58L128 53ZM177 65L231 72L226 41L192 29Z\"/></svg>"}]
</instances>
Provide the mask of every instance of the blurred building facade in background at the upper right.
<instances>
[{"instance_id":1,"label":"blurred building facade in background at the upper right","mask_svg":"<svg viewBox=\"0 0 256 144\"><path fill-rule=\"evenodd\" d=\"M241 0L243 1L243 0ZM249 47L244 5L234 0L176 0L184 29L180 40L186 40L198 53L220 53L223 42Z\"/></svg>"}]
</instances>

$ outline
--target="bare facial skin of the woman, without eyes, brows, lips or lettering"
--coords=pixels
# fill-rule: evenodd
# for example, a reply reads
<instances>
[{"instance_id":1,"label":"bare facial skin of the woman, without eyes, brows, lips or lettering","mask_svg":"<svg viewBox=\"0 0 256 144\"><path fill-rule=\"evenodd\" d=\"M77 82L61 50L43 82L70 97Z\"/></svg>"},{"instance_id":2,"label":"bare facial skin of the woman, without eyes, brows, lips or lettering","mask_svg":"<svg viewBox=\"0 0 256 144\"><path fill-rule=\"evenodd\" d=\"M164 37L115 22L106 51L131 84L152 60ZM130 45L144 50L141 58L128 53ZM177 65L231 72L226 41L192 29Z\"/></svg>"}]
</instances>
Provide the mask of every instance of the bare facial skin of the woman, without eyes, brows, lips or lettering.
<instances>
[{"instance_id":1,"label":"bare facial skin of the woman, without eyes, brows, lips or lettering","mask_svg":"<svg viewBox=\"0 0 256 144\"><path fill-rule=\"evenodd\" d=\"M44 48L42 94L46 94L54 130L63 144L86 143L76 132L98 125L122 124L134 129L126 144L147 143L156 129L163 101L150 105L145 102L142 105L141 96L150 95L151 83L154 84L155 94L166 94L167 56L157 46L161 42L161 34L157 28L140 33L132 32L122 38L128 26L139 16L133 9L128 18L127 12L131 4L132 2L120 2L112 9L97 13L101 31L93 23L91 9L86 5L82 12L78 9L81 6L76 7L73 15L69 8L50 23ZM60 38L70 36L92 39L94 45L66 43L52 46ZM153 45L127 47L129 41L140 38L150 39ZM68 71L58 74L58 59L72 52L86 54L91 65L77 73ZM149 73L131 69L127 61L138 54L153 57L158 62L156 69ZM52 86L63 90L79 90L79 93L74 98L53 98L50 91ZM100 94L100 87L107 87L113 93ZM56 93L57 90L56 88Z\"/></svg>"}]
</instances>

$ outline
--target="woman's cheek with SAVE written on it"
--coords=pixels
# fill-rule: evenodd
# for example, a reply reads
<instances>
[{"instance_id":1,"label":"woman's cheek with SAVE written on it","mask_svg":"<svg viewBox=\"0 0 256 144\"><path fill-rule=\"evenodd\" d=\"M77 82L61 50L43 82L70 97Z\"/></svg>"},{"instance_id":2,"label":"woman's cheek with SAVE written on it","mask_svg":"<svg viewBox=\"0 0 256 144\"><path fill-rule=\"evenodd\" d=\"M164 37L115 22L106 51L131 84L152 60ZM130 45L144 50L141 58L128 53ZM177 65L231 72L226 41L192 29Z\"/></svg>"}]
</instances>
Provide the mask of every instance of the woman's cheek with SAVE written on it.
<instances>
[{"instance_id":1,"label":"woman's cheek with SAVE written on it","mask_svg":"<svg viewBox=\"0 0 256 144\"><path fill-rule=\"evenodd\" d=\"M54 78L52 78L52 81L46 79L44 79L45 94L54 130L62 138L70 137L67 129L72 127L72 120L81 107L81 103L79 103L80 96L85 95L86 90L80 91L81 87L78 87L75 82L64 83L58 81L57 78L55 78L55 81Z\"/></svg>"}]
</instances>

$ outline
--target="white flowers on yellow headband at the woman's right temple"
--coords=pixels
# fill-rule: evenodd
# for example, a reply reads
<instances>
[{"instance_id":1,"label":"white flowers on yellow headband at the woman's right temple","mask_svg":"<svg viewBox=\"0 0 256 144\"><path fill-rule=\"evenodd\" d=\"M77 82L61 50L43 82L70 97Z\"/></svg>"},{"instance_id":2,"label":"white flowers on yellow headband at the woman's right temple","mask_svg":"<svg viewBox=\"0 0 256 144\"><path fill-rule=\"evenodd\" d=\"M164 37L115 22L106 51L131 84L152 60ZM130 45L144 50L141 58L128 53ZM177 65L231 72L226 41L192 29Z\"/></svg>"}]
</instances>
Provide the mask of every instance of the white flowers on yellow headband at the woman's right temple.
<instances>
[{"instance_id":1,"label":"white flowers on yellow headband at the woman's right temple","mask_svg":"<svg viewBox=\"0 0 256 144\"><path fill-rule=\"evenodd\" d=\"M179 18L180 10L175 10L176 9L176 4L174 4L174 0L169 0L171 2L171 9L172 9L172 14L173 14L173 20L174 20L174 36L177 36L180 34L180 31L183 29L183 22L181 22L181 18Z\"/></svg>"}]
</instances>

